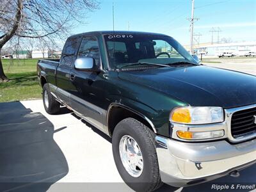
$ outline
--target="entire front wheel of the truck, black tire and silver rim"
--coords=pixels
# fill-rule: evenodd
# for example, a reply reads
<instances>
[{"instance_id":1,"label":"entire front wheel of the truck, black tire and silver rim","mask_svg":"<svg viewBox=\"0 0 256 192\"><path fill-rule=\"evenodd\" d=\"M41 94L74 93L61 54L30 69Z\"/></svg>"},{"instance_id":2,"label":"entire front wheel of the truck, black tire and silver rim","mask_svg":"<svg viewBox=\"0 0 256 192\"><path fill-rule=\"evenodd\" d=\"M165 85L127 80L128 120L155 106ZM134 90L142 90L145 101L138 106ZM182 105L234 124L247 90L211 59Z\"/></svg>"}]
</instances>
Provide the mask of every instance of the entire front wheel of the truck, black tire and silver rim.
<instances>
[{"instance_id":1,"label":"entire front wheel of the truck, black tire and silver rim","mask_svg":"<svg viewBox=\"0 0 256 192\"><path fill-rule=\"evenodd\" d=\"M135 191L161 186L154 132L134 118L119 122L113 132L113 156L125 183Z\"/></svg>"}]
</instances>

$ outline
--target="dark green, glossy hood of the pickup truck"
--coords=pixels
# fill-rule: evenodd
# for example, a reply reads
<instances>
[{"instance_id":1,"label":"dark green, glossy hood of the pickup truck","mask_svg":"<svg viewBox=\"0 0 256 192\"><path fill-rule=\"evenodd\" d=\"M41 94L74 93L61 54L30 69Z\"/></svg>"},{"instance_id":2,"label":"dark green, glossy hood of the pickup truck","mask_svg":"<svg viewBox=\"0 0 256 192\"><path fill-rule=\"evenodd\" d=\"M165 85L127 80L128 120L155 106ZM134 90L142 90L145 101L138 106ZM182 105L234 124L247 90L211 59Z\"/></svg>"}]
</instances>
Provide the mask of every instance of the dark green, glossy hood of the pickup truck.
<instances>
[{"instance_id":1,"label":"dark green, glossy hood of the pickup truck","mask_svg":"<svg viewBox=\"0 0 256 192\"><path fill-rule=\"evenodd\" d=\"M191 106L235 108L256 103L256 77L232 70L204 65L164 67L119 72L118 77L163 92Z\"/></svg>"}]
</instances>

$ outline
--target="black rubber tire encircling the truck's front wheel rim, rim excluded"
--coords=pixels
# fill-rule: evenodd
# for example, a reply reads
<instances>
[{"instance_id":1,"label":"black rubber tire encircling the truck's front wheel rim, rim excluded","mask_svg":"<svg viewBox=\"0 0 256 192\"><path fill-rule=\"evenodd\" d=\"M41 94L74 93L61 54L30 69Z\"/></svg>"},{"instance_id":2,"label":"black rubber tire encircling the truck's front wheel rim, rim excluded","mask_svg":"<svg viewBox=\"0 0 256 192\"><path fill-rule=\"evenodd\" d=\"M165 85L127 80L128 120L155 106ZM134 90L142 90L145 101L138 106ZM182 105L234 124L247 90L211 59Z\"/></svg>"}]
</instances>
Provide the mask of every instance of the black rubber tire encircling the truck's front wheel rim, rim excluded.
<instances>
[{"instance_id":1,"label":"black rubber tire encircling the truck's front wheel rim, rim excluded","mask_svg":"<svg viewBox=\"0 0 256 192\"><path fill-rule=\"evenodd\" d=\"M122 163L119 143L123 136L129 135L140 147L143 157L143 170L139 177L131 176ZM134 118L125 118L119 122L113 132L112 150L118 172L125 183L135 191L154 191L162 184L156 154L154 132Z\"/></svg>"}]
</instances>

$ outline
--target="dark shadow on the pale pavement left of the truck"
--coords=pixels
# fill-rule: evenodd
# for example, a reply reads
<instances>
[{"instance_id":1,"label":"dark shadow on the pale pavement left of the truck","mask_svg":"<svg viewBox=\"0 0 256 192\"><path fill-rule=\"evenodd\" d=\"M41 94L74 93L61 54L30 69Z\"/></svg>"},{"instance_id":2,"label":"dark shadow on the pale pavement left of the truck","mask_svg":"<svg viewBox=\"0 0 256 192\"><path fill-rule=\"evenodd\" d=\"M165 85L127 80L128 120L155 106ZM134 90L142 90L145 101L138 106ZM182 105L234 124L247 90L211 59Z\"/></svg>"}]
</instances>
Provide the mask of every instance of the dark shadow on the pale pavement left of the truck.
<instances>
[{"instance_id":1,"label":"dark shadow on the pale pavement left of the truck","mask_svg":"<svg viewBox=\"0 0 256 192\"><path fill-rule=\"evenodd\" d=\"M68 173L54 126L31 112L20 102L0 103L0 191L47 191Z\"/></svg>"}]
</instances>

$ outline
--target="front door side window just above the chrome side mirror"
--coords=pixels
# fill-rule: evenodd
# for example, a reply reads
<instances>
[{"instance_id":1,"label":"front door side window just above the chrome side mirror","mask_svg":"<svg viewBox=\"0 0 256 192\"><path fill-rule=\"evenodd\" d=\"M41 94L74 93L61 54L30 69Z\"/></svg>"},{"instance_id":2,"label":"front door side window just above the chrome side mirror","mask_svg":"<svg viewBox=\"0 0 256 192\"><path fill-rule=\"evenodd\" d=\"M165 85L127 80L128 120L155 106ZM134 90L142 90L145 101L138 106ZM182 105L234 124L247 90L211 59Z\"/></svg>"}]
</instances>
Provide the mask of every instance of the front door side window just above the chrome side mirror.
<instances>
[{"instance_id":1,"label":"front door side window just above the chrome side mirror","mask_svg":"<svg viewBox=\"0 0 256 192\"><path fill-rule=\"evenodd\" d=\"M97 38L95 37L84 37L77 58L91 57L95 60L97 66L100 67L100 52Z\"/></svg>"}]
</instances>

